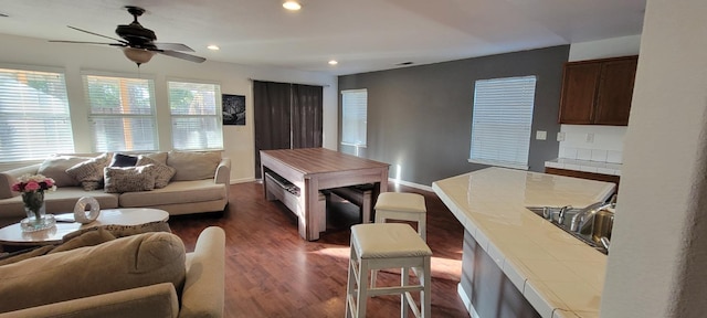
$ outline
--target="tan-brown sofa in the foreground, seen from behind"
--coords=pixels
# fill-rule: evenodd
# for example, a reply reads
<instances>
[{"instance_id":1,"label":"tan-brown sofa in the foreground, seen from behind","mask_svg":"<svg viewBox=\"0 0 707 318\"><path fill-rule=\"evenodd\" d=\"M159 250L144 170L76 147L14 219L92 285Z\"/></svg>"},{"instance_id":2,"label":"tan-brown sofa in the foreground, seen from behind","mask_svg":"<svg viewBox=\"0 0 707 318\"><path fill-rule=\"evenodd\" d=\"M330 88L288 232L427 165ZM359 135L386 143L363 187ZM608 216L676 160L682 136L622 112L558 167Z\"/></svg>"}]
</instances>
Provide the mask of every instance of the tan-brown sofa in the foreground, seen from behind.
<instances>
[{"instance_id":1,"label":"tan-brown sofa in the foreground, seen from behind","mask_svg":"<svg viewBox=\"0 0 707 318\"><path fill-rule=\"evenodd\" d=\"M191 253L151 232L2 265L0 318L222 317L224 245L211 226Z\"/></svg>"}]
</instances>

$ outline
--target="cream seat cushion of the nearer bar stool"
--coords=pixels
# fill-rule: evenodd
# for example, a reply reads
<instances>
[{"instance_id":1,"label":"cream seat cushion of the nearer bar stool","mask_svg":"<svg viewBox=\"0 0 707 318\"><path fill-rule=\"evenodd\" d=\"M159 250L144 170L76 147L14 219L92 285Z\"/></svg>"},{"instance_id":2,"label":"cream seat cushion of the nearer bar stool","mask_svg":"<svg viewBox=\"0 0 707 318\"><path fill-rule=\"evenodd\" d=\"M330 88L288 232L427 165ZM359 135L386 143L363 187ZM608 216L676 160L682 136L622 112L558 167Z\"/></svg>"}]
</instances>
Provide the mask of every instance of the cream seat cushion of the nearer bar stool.
<instances>
[{"instance_id":1,"label":"cream seat cushion of the nearer bar stool","mask_svg":"<svg viewBox=\"0 0 707 318\"><path fill-rule=\"evenodd\" d=\"M403 223L369 223L351 226L351 248L361 258L430 256L432 250L412 226Z\"/></svg>"}]
</instances>

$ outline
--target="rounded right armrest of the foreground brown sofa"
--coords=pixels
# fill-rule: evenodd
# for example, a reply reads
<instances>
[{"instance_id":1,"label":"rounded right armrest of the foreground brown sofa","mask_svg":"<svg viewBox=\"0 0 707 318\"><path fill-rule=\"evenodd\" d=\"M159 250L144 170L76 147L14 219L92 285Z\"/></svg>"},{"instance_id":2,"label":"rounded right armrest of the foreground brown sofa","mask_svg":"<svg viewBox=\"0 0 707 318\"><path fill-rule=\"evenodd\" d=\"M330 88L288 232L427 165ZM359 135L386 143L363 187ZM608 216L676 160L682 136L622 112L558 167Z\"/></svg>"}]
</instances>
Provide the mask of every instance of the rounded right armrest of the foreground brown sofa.
<instances>
[{"instance_id":1,"label":"rounded right armrest of the foreground brown sofa","mask_svg":"<svg viewBox=\"0 0 707 318\"><path fill-rule=\"evenodd\" d=\"M179 317L223 317L225 233L210 226L187 254L187 279Z\"/></svg>"}]
</instances>

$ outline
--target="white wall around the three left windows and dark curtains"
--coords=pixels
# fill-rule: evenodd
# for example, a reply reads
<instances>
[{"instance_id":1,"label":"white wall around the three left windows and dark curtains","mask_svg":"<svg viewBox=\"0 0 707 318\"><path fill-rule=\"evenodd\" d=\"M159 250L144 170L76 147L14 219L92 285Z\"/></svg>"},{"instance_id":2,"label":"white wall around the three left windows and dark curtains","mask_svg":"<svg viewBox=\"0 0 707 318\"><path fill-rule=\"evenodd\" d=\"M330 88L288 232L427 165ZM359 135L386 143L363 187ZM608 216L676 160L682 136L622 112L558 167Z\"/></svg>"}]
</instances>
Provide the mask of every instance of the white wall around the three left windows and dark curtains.
<instances>
[{"instance_id":1,"label":"white wall around the three left windows and dark curtains","mask_svg":"<svg viewBox=\"0 0 707 318\"><path fill-rule=\"evenodd\" d=\"M289 68L252 67L207 61L198 64L165 55L138 70L120 50L108 46L49 43L45 40L0 34L0 67L36 65L60 67L66 74L68 100L74 124L77 152L91 152L87 107L84 103L81 72L101 71L151 77L155 80L160 150L171 147L169 105L166 81L172 78L215 82L221 93L245 95L245 126L223 127L224 157L232 159L231 181L254 180L254 129L252 81L273 81L325 85L324 87L324 147L337 149L337 77ZM77 129L76 129L77 128ZM3 170L9 166L0 167Z\"/></svg>"}]
</instances>

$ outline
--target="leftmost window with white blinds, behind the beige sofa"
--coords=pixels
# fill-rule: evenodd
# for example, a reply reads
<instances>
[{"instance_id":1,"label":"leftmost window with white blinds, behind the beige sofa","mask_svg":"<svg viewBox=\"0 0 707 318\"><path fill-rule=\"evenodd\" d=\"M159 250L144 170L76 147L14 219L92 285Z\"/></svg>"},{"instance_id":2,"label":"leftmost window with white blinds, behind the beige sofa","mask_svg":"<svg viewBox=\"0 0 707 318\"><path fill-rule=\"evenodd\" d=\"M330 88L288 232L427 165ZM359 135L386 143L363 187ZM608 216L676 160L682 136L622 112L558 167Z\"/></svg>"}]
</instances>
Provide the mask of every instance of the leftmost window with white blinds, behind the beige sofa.
<instances>
[{"instance_id":1,"label":"leftmost window with white blinds, behind the beige sofa","mask_svg":"<svg viewBox=\"0 0 707 318\"><path fill-rule=\"evenodd\" d=\"M73 151L64 74L0 68L0 162Z\"/></svg>"}]
</instances>

